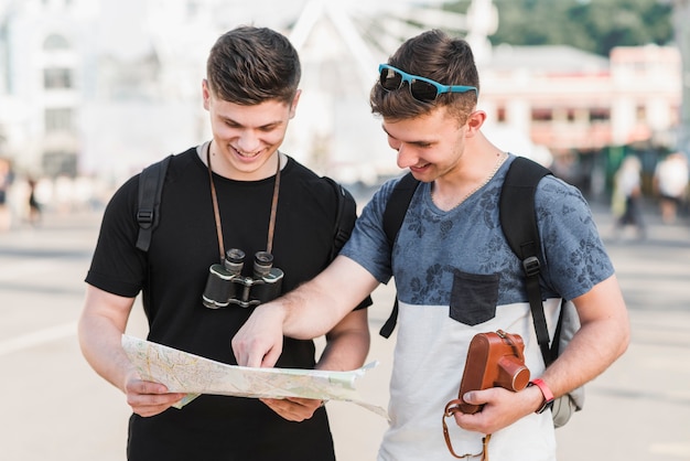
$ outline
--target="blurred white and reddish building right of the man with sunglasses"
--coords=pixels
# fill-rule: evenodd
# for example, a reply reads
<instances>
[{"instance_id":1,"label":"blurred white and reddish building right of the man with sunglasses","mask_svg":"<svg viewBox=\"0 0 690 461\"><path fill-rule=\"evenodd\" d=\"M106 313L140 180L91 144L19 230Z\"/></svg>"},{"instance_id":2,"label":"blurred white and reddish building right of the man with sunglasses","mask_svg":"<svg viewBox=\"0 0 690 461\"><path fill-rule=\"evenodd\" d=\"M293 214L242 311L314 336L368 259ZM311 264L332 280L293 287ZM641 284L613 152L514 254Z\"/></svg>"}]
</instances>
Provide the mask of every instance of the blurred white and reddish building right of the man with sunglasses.
<instances>
[{"instance_id":1,"label":"blurred white and reddish building right of the man with sunglasses","mask_svg":"<svg viewBox=\"0 0 690 461\"><path fill-rule=\"evenodd\" d=\"M681 75L673 46L615 47L605 58L568 46L499 45L482 69L481 105L500 148L518 149L511 142L527 135L535 147L527 157L551 157L554 173L597 195L626 153L642 157L649 182L657 158L675 148Z\"/></svg>"}]
</instances>

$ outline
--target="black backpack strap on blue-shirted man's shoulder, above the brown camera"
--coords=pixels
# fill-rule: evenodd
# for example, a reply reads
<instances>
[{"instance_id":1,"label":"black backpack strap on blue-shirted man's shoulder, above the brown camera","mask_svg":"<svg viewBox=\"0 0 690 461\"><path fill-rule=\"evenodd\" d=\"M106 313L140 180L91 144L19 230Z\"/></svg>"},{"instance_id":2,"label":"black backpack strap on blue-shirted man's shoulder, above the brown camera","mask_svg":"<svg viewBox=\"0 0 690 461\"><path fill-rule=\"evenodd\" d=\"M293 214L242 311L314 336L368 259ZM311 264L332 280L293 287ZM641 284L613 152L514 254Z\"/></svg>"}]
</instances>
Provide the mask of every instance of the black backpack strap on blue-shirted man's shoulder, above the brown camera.
<instances>
[{"instance_id":1,"label":"black backpack strap on blue-shirted man's shoulder, above the brown camera","mask_svg":"<svg viewBox=\"0 0 690 461\"><path fill-rule=\"evenodd\" d=\"M549 366L554 357L549 347L549 331L539 287L543 256L535 212L537 184L547 174L551 172L540 164L522 157L516 158L500 191L498 215L506 239L522 264L537 341L545 364Z\"/></svg>"}]
</instances>

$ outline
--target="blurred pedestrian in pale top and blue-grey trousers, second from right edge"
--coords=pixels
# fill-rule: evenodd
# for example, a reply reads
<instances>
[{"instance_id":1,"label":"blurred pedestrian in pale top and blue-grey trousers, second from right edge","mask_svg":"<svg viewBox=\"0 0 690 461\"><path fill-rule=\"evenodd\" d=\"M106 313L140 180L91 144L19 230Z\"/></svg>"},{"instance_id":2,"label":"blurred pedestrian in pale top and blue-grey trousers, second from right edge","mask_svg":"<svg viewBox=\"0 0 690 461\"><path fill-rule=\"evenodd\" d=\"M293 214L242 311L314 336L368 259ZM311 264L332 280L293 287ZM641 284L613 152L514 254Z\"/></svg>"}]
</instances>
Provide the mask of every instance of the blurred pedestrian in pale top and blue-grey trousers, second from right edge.
<instances>
[{"instance_id":1,"label":"blurred pedestrian in pale top and blue-grey trousers, second from right edge","mask_svg":"<svg viewBox=\"0 0 690 461\"><path fill-rule=\"evenodd\" d=\"M626 226L634 226L640 238L646 237L647 228L640 208L642 163L637 157L628 156L623 160L614 176L612 211L616 217L615 227L622 232Z\"/></svg>"}]
</instances>

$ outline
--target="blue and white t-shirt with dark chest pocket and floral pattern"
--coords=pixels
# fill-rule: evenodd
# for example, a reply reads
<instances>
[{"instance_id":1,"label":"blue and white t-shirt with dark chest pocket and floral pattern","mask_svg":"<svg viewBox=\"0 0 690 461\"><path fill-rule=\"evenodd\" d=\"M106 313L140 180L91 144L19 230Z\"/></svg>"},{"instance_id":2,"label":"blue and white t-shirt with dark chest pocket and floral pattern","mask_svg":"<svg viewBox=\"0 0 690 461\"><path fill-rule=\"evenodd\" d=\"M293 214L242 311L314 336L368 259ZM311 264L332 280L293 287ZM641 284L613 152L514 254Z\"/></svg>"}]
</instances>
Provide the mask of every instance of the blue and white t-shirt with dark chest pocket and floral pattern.
<instances>
[{"instance_id":1,"label":"blue and white t-shirt with dark chest pocket and floral pattern","mask_svg":"<svg viewBox=\"0 0 690 461\"><path fill-rule=\"evenodd\" d=\"M392 256L384 210L398 180L375 194L341 251L380 282L395 276L399 313L390 383L391 425L379 460L452 460L442 433L445 404L457 392L470 341L502 329L525 341L532 377L543 372L520 261L499 226L498 199L508 165L451 211L438 208L430 184L418 187ZM536 193L546 269L541 289L550 335L560 298L573 299L613 275L612 262L580 191L546 176ZM483 435L449 419L455 452L478 453ZM492 461L556 459L551 415L530 415L492 436Z\"/></svg>"}]
</instances>

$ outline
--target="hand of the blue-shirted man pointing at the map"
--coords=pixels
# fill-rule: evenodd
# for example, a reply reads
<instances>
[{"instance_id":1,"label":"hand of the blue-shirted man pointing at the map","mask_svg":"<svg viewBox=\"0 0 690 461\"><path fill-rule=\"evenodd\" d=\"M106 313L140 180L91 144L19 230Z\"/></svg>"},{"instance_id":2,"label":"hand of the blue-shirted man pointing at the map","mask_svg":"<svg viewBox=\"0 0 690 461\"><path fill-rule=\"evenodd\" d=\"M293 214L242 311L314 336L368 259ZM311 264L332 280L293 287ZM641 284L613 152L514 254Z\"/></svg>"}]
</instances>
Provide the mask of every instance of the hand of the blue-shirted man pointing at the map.
<instances>
[{"instance_id":1,"label":"hand of the blue-shirted man pointing at the map","mask_svg":"<svg viewBox=\"0 0 690 461\"><path fill-rule=\"evenodd\" d=\"M280 304L257 307L233 337L233 351L240 366L272 367L282 352L284 313Z\"/></svg>"}]
</instances>

